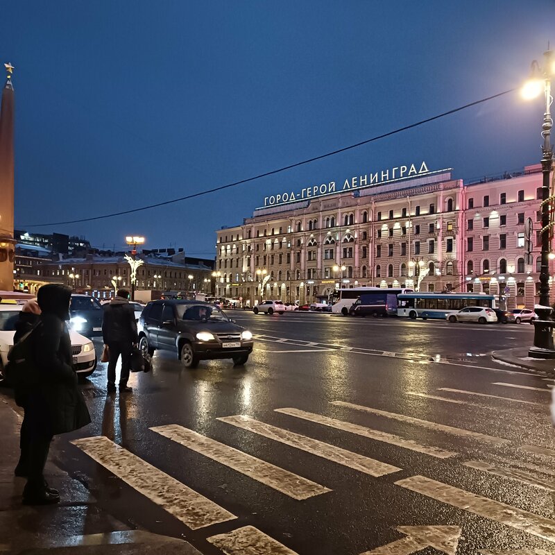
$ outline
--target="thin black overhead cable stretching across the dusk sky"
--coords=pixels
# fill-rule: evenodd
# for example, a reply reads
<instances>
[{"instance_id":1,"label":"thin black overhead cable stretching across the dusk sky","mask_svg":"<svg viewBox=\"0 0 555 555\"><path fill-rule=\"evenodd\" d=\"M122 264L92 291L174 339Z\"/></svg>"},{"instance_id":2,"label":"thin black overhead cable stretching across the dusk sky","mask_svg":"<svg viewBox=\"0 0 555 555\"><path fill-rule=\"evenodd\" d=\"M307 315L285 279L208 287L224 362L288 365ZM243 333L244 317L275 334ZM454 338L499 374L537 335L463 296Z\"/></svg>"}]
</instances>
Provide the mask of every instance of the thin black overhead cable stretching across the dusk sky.
<instances>
[{"instance_id":1,"label":"thin black overhead cable stretching across the dusk sky","mask_svg":"<svg viewBox=\"0 0 555 555\"><path fill-rule=\"evenodd\" d=\"M375 137L372 137L371 139L366 139L365 141L361 141L355 144L351 144L350 146L343 146L343 148L338 148L336 151L332 151L332 152L328 152L325 154L321 154L319 156L314 156L312 158L308 158L307 160L302 160L301 162L296 162L294 164L289 164L289 166L284 166L278 169L274 169L271 171L266 171L265 173L259 173L259 175L257 176L253 176L250 178L246 178L246 179L241 179L239 181L234 181L232 183L228 183L227 185L221 185L220 187L214 187L212 189L206 189L205 191L199 191L198 193L193 193L190 195L186 195L186 196L180 196L179 198L173 198L171 200L164 200L161 203L155 203L155 204L151 204L151 205L147 205L147 206L142 206L139 208L133 208L131 210L122 210L121 212L113 212L112 214L104 214L103 216L92 216L91 218L82 218L82 219L78 219L78 220L68 220L68 221L55 221L55 222L49 222L49 223L33 223L33 224L28 224L28 225L21 225L20 227L22 228L44 228L46 226L49 225L66 225L68 223L83 223L85 221L94 221L94 220L103 220L103 219L107 219L107 218L114 218L115 216L123 216L124 214L133 214L133 212L142 212L143 210L150 210L151 208L157 208L159 206L165 206L165 205L169 205L169 204L173 204L173 203L180 203L182 200L188 200L189 198L196 198L197 196L204 196L210 193L215 193L216 191L222 191L223 189L229 189L230 187L237 187L237 185L243 185L244 183L248 183L250 181L254 181L260 178L265 178L268 176L273 176L276 173L281 173L282 171L286 171L288 169L292 169L292 168L296 168L298 166L302 166L304 164L309 164L310 162L316 162L316 160L322 160L323 158L326 158L328 156L333 156L335 154L339 154L345 151L349 151L352 148L357 148L359 146L362 146L363 144L368 144L374 141L377 141L379 139L384 139L385 137L391 137L391 135L395 135L397 133L401 133L402 131L406 131L408 129L412 129L418 126L423 125L424 123L429 123L430 121L434 121L435 119L440 119L442 117L445 116L449 116L450 114L454 114L456 112L460 112L461 110L466 110L466 108L471 108L472 106L493 100L493 99L497 99L499 96L504 96L504 94L509 94L510 92L515 91L515 89L509 89L507 91L504 92L499 92L497 94L493 94L493 96L487 96L485 99L481 99L481 100L477 100L475 102L471 102L468 104L465 104L463 106L459 106L459 108L454 108L453 110L449 110L448 112L443 112L442 114L438 114L436 116L433 117L429 117L427 119L422 119L421 121L417 121L416 123L411 123L408 126L404 126L404 127L400 127L398 129L395 129L393 131L389 131L388 133L384 133L382 135L376 135Z\"/></svg>"}]
</instances>

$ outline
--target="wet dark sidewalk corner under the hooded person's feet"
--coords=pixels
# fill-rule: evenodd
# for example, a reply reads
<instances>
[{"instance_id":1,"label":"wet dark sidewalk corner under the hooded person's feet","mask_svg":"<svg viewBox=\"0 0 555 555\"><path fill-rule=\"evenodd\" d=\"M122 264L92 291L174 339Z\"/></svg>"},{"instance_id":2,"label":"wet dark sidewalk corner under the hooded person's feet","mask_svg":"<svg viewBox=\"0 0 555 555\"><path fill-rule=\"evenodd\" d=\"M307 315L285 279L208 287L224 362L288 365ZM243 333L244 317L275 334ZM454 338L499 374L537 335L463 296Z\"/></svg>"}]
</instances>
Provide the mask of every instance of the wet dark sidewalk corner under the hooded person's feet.
<instances>
[{"instance_id":1,"label":"wet dark sidewalk corner under the hooded person's feet","mask_svg":"<svg viewBox=\"0 0 555 555\"><path fill-rule=\"evenodd\" d=\"M0 555L200 555L178 538L132 530L114 519L80 481L50 461L45 475L62 501L23 505L25 480L13 474L19 459L19 410L9 395L0 393Z\"/></svg>"}]
</instances>

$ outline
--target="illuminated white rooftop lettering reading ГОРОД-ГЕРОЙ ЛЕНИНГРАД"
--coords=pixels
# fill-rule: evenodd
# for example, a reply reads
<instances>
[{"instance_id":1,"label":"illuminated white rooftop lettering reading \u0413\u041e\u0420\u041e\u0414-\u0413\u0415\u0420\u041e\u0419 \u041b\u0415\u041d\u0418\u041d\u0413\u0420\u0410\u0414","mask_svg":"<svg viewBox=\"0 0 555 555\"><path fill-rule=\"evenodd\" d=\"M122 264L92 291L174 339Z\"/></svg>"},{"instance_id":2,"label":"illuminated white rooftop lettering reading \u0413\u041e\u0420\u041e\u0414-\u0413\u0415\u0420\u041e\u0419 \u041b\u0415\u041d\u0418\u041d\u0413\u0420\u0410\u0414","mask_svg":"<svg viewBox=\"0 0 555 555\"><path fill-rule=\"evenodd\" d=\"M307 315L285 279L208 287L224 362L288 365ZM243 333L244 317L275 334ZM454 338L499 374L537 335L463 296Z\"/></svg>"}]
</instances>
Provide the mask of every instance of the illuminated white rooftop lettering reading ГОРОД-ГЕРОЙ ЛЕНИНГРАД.
<instances>
[{"instance_id":1,"label":"illuminated white rooftop lettering reading \u0413\u041e\u0420\u041e\u0414-\u0413\u0415\u0420\u041e\u0419 \u041b\u0415\u041d\u0418\u041d\u0413\u0420\u0410\u0414","mask_svg":"<svg viewBox=\"0 0 555 555\"><path fill-rule=\"evenodd\" d=\"M425 176L429 173L426 162L421 164L407 164L402 166L395 166L390 169L376 171L374 173L365 173L362 176L354 176L347 178L341 185L337 186L335 181L323 183L322 185L311 185L301 189L300 192L283 191L275 195L264 197L264 207L278 206L289 203L296 203L299 200L307 200L309 198L316 198L320 196L327 196L336 193L344 193L353 189L366 189L367 187L376 187L377 185L384 185L391 181L404 180L409 178L416 178ZM261 207L262 208L262 207ZM258 209L257 209L258 210Z\"/></svg>"}]
</instances>

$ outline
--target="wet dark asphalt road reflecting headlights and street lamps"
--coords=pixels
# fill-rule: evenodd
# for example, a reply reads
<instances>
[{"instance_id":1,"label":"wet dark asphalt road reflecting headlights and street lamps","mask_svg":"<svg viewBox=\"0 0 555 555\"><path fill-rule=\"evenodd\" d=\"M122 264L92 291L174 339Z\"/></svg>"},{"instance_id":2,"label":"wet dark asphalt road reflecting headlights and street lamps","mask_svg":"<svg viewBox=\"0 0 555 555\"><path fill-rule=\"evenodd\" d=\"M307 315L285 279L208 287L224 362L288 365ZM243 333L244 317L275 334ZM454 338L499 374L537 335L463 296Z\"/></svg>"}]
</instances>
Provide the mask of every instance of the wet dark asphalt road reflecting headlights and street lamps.
<instances>
[{"instance_id":1,"label":"wet dark asphalt road reflecting headlights and street lamps","mask_svg":"<svg viewBox=\"0 0 555 555\"><path fill-rule=\"evenodd\" d=\"M555 441L547 409L553 382L488 356L492 350L531 344L532 326L327 314L229 315L260 336L244 368L234 368L230 361L204 361L198 369L186 370L175 354L157 352L151 373L132 375L132 394L105 393L104 364L84 384L93 424L58 439L55 456L116 518L186 538L214 555L250 553L246 547L219 549L206 539L247 526L291 550L259 545L253 553L260 554L358 555L390 543L389 551L379 553L417 552L425 549L418 540L422 529L403 532L398 527L424 526L453 527L432 531L432 545L436 541L438 547L424 553L555 552ZM97 347L100 352L101 344ZM238 415L293 434L280 432L278 441L217 420ZM200 445L198 436L187 439L197 445L193 450L151 430L169 425L198 432L278 470L262 469L258 477L244 470L246 475L226 466L235 463L234 454L218 454L219 447ZM151 466L137 470L137 459L122 459L119 470L107 470L85 454L83 445L69 443L90 436L105 436ZM347 450L341 454L347 462L331 460L335 455L307 438ZM311 452L294 447L294 441ZM352 454L365 456L370 467L374 461L386 463L389 470L373 476L352 468ZM245 466L254 467L253 459ZM121 468L133 485L121 479ZM283 477L280 469L294 476ZM171 502L162 507L160 498L148 492L148 484L167 482L157 477L160 471L237 518L208 525L200 518L203 527L191 529L171 514ZM146 481L146 493L137 491L136 475ZM428 479L423 486L414 478L419 476ZM310 497L295 499L280 490L292 479L293 489L305 495L301 478L316 484L307 486L313 488ZM421 547L407 550L402 541L407 533L413 534L413 547ZM447 536L436 538L442 533L450 544Z\"/></svg>"}]
</instances>

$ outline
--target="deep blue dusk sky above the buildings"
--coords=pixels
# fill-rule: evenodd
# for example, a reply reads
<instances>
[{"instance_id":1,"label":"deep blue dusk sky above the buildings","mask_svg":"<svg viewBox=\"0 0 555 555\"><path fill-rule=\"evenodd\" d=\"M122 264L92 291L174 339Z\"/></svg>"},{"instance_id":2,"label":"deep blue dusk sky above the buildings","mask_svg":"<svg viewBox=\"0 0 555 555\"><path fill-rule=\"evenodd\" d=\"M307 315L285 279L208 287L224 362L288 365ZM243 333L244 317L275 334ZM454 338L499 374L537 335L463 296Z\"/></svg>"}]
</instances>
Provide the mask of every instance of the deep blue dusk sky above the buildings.
<instances>
[{"instance_id":1,"label":"deep blue dusk sky above the buildings","mask_svg":"<svg viewBox=\"0 0 555 555\"><path fill-rule=\"evenodd\" d=\"M538 163L541 99L517 92L275 176L126 216L518 87L553 0L12 2L15 221L123 248L214 257L264 197L427 163L453 177Z\"/></svg>"}]
</instances>

